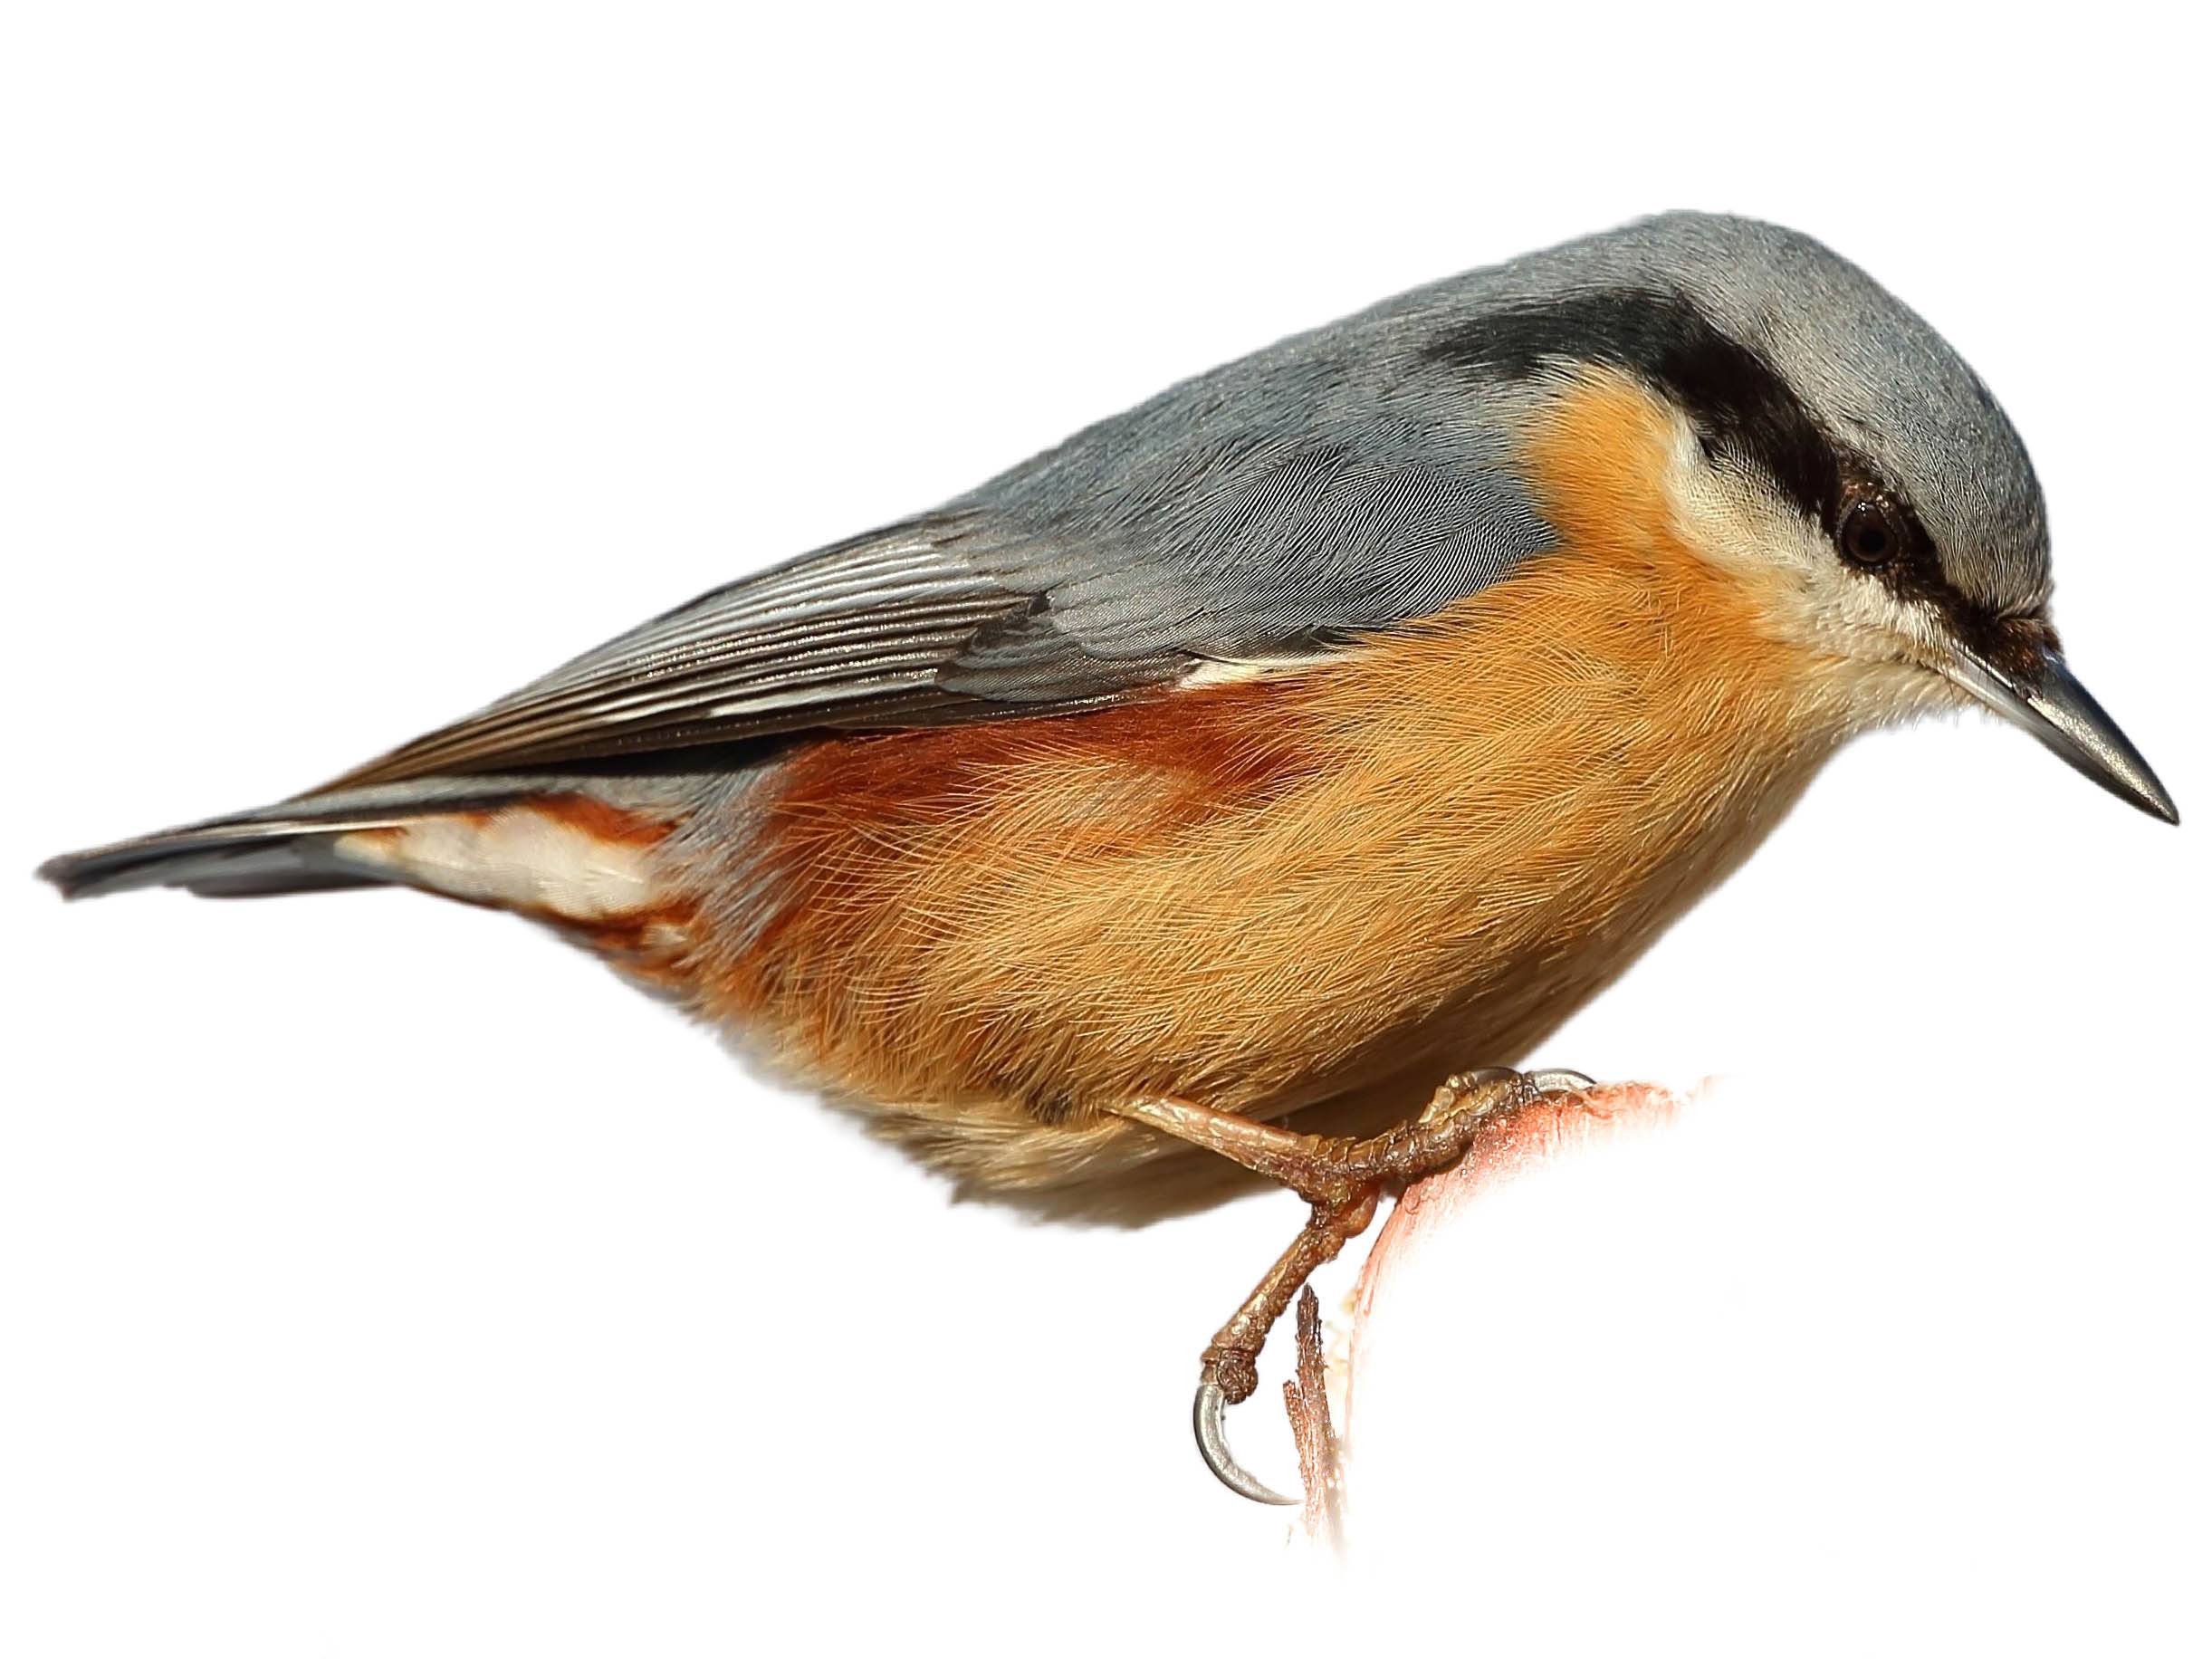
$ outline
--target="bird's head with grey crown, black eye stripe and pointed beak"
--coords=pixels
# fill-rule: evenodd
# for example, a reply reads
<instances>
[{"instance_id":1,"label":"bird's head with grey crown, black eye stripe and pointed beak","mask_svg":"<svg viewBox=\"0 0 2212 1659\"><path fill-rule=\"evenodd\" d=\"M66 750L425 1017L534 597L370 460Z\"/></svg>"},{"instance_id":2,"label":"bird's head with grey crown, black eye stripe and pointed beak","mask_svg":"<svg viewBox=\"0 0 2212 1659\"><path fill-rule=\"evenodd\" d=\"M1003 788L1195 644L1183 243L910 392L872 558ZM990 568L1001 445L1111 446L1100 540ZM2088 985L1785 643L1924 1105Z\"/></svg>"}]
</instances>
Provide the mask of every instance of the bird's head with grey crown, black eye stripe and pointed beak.
<instances>
[{"instance_id":1,"label":"bird's head with grey crown, black eye stripe and pointed beak","mask_svg":"<svg viewBox=\"0 0 2212 1659\"><path fill-rule=\"evenodd\" d=\"M2042 487L1982 380L1809 237L1666 215L1482 272L1429 354L1500 383L1626 376L1670 414L1686 542L1756 580L1774 628L1869 717L1973 697L2168 823L2066 668Z\"/></svg>"}]
</instances>

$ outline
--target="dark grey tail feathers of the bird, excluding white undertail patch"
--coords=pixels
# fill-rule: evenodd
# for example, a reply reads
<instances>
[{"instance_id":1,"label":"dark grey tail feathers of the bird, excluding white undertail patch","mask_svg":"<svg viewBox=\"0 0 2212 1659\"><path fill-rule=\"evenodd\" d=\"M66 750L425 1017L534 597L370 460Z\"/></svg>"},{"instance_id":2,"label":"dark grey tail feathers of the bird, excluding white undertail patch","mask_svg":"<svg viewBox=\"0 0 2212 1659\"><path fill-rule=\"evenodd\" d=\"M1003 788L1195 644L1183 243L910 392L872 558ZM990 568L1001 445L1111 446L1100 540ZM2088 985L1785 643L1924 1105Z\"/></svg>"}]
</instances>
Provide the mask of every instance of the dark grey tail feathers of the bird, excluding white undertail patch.
<instances>
[{"instance_id":1,"label":"dark grey tail feathers of the bird, excluding white undertail patch","mask_svg":"<svg viewBox=\"0 0 2212 1659\"><path fill-rule=\"evenodd\" d=\"M480 781L469 794L434 794L422 785L352 790L159 830L108 847L64 852L42 863L38 874L60 887L62 898L128 894L137 887L186 887L206 898L383 887L389 876L338 856L338 836L509 799L513 792L484 790Z\"/></svg>"}]
</instances>

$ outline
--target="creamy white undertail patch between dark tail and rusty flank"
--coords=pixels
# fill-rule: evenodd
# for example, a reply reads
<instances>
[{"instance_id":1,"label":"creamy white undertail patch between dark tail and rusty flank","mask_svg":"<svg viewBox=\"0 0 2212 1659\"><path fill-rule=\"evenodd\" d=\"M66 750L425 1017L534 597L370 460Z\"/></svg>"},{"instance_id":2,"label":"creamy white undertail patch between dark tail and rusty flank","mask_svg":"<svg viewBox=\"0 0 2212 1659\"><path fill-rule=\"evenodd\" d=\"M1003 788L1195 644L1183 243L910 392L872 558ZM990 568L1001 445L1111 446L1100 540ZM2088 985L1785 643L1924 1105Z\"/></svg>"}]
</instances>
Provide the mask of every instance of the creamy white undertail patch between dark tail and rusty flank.
<instances>
[{"instance_id":1,"label":"creamy white undertail patch between dark tail and rusty flank","mask_svg":"<svg viewBox=\"0 0 2212 1659\"><path fill-rule=\"evenodd\" d=\"M420 818L338 836L347 863L480 905L595 922L655 900L653 847L608 841L533 807Z\"/></svg>"}]
</instances>

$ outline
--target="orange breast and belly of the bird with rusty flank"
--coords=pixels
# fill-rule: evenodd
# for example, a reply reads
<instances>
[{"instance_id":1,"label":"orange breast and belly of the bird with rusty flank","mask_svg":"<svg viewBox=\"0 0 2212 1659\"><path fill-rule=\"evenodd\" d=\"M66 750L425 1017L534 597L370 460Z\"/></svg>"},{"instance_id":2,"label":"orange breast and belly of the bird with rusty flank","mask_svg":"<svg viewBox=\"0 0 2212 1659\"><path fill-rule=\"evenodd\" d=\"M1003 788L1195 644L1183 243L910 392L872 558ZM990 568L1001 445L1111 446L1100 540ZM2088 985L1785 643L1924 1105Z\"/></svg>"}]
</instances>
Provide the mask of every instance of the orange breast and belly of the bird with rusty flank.
<instances>
[{"instance_id":1,"label":"orange breast and belly of the bird with rusty flank","mask_svg":"<svg viewBox=\"0 0 2212 1659\"><path fill-rule=\"evenodd\" d=\"M799 750L706 1011L982 1181L1064 1179L1024 1135L1137 1091L1281 1115L1511 1060L1840 734L1670 531L1668 436L1566 396L1528 458L1562 551L1340 661Z\"/></svg>"}]
</instances>

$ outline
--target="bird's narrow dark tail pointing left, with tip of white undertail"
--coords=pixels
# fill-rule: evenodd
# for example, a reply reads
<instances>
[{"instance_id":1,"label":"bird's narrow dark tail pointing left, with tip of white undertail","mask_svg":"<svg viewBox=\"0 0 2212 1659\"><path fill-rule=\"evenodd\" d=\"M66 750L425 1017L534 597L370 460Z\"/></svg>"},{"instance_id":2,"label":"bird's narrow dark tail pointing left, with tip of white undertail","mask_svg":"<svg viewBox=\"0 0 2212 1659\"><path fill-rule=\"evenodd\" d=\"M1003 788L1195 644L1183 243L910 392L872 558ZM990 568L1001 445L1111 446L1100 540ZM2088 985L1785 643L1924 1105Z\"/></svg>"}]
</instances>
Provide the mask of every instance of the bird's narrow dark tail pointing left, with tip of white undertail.
<instances>
[{"instance_id":1,"label":"bird's narrow dark tail pointing left, with tip of white undertail","mask_svg":"<svg viewBox=\"0 0 2212 1659\"><path fill-rule=\"evenodd\" d=\"M159 830L108 847L64 852L40 865L38 874L60 887L62 898L97 898L139 887L248 898L394 883L456 891L422 858L405 860L394 854L409 836L449 825L482 825L502 807L531 796L544 796L542 781L500 787L487 779L425 779L345 790Z\"/></svg>"}]
</instances>

